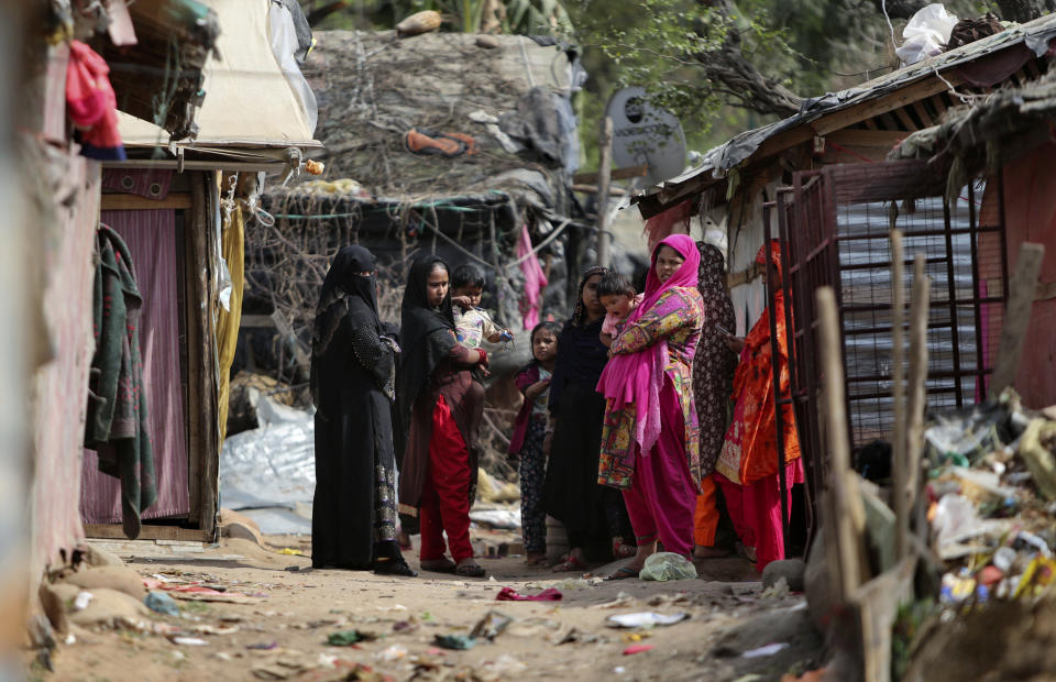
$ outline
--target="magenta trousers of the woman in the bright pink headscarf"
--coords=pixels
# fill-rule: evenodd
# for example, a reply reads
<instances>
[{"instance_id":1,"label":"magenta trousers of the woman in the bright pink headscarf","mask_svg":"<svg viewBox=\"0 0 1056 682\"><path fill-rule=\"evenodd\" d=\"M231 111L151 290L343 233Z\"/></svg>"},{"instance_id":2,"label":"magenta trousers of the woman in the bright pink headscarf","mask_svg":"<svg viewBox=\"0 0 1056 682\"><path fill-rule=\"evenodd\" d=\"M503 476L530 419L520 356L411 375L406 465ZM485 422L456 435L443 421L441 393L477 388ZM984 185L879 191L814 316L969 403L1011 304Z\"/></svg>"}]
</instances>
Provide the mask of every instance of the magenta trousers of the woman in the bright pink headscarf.
<instances>
[{"instance_id":1,"label":"magenta trousers of the woman in the bright pink headscarf","mask_svg":"<svg viewBox=\"0 0 1056 682\"><path fill-rule=\"evenodd\" d=\"M664 551L689 557L697 490L685 457L682 405L671 382L660 392L660 411L664 429L652 457L635 455L634 483L624 502L639 543L659 539Z\"/></svg>"}]
</instances>

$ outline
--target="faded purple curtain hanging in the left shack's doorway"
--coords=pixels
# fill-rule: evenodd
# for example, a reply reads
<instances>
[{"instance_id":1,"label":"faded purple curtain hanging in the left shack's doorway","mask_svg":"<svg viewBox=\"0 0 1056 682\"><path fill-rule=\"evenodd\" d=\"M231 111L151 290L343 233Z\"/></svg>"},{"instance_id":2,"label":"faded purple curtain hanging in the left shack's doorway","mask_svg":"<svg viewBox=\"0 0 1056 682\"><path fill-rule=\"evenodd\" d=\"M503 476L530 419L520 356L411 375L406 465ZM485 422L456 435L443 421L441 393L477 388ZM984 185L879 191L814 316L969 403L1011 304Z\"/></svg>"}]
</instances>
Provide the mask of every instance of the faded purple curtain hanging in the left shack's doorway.
<instances>
[{"instance_id":1,"label":"faded purple curtain hanging in the left shack's doorway","mask_svg":"<svg viewBox=\"0 0 1056 682\"><path fill-rule=\"evenodd\" d=\"M143 518L185 516L190 512L190 492L179 364L176 213L102 211L100 219L128 244L143 294L140 349L157 481L157 502ZM88 524L121 522L121 482L100 473L98 465L95 451L85 450L81 517Z\"/></svg>"}]
</instances>

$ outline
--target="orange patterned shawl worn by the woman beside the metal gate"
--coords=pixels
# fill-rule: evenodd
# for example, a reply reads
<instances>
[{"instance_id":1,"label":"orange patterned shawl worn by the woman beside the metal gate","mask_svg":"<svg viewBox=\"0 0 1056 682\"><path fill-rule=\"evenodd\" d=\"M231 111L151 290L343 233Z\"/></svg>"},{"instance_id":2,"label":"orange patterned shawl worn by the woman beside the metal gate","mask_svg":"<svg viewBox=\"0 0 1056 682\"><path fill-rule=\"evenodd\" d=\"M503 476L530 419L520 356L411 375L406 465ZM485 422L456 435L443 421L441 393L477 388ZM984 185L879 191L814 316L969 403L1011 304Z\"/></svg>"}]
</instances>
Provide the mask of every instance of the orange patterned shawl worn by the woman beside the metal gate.
<instances>
[{"instance_id":1,"label":"orange patterned shawl worn by the woman beside the metal gate","mask_svg":"<svg viewBox=\"0 0 1056 682\"><path fill-rule=\"evenodd\" d=\"M778 242L771 241L759 250L757 263L766 263L766 251L770 249L778 277L781 276L781 261ZM789 395L789 340L784 324L784 293L778 290L773 297L773 311L777 319L778 348L781 356L781 393ZM726 442L719 454L715 470L741 485L748 485L778 472L777 411L773 396L773 366L770 345L770 314L762 311L759 321L745 338L745 350L734 375L734 421L726 432ZM791 462L800 457L800 439L795 430L795 413L792 405L782 407L782 432L784 435L784 461Z\"/></svg>"}]
</instances>

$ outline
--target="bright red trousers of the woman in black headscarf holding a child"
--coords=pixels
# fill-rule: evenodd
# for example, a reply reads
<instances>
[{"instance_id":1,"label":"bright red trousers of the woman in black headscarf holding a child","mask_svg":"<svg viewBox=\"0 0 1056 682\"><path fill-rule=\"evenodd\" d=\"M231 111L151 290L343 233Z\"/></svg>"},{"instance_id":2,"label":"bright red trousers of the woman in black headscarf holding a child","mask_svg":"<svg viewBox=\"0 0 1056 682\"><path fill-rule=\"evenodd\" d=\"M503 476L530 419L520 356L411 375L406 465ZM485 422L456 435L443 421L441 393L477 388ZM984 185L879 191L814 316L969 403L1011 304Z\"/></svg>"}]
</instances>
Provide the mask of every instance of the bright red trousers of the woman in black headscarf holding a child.
<instances>
[{"instance_id":1,"label":"bright red trousers of the woman in black headscarf holding a child","mask_svg":"<svg viewBox=\"0 0 1056 682\"><path fill-rule=\"evenodd\" d=\"M473 557L470 544L470 452L441 395L432 410L429 477L421 495L421 560L442 559L448 534L455 563Z\"/></svg>"}]
</instances>

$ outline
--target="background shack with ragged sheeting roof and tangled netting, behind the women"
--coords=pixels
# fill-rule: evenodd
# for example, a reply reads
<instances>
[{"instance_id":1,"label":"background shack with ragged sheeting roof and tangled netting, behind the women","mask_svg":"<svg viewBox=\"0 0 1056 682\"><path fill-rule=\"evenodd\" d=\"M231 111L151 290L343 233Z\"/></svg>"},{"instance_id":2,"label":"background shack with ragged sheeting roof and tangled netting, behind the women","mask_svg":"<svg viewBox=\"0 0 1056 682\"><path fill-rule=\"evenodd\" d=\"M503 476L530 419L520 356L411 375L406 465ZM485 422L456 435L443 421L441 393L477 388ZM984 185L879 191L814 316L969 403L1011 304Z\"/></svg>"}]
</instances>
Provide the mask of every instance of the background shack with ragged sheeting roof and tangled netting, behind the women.
<instances>
[{"instance_id":1,"label":"background shack with ragged sheeting roof and tangled netting, behind the women","mask_svg":"<svg viewBox=\"0 0 1056 682\"><path fill-rule=\"evenodd\" d=\"M350 243L378 258L387 321L398 322L406 263L420 250L479 265L484 306L512 329L564 316L592 235L566 189L579 160L575 54L514 35L316 37L304 70L327 168L270 188L271 216L250 226L245 310L261 316L250 321L270 327L264 316L276 314L302 362L318 287Z\"/></svg>"}]
</instances>

